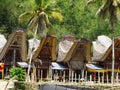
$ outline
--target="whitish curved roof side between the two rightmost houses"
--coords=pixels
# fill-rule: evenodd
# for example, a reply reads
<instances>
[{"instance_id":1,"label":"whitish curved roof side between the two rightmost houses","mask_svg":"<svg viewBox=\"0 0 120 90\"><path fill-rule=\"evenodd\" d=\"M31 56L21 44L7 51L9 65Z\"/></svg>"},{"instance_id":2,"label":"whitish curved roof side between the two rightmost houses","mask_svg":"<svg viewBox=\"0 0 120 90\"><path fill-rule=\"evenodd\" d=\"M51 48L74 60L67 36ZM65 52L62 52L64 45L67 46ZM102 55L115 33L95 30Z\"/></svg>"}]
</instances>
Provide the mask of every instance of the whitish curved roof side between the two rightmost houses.
<instances>
[{"instance_id":1,"label":"whitish curved roof side between the two rightmost houses","mask_svg":"<svg viewBox=\"0 0 120 90\"><path fill-rule=\"evenodd\" d=\"M101 58L104 56L112 40L104 35L98 36L96 41L93 41L93 61L101 61Z\"/></svg>"}]
</instances>

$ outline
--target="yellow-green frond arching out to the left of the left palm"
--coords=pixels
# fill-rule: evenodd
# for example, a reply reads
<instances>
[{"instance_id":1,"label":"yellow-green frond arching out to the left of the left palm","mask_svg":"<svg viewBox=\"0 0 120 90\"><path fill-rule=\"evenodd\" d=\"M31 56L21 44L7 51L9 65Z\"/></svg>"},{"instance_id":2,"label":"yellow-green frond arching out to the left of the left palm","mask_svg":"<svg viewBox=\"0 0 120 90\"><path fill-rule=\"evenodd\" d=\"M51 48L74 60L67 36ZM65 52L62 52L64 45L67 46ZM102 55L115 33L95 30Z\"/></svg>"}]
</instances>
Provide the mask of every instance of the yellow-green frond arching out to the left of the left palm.
<instances>
[{"instance_id":1,"label":"yellow-green frond arching out to the left of the left palm","mask_svg":"<svg viewBox=\"0 0 120 90\"><path fill-rule=\"evenodd\" d=\"M32 11L28 11L28 12L25 12L23 14L21 14L18 18L19 22L24 22L24 21L27 21L30 19L30 17L32 18L34 16L34 12Z\"/></svg>"}]
</instances>

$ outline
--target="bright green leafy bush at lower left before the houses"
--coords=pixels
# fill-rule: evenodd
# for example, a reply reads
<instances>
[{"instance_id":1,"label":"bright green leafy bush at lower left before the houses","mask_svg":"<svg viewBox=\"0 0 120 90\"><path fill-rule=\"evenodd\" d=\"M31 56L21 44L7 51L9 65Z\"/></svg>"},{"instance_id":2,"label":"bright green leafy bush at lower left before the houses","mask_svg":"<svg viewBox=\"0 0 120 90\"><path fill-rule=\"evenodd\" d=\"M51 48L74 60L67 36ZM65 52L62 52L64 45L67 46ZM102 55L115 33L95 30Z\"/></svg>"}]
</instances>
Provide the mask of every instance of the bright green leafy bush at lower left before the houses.
<instances>
[{"instance_id":1,"label":"bright green leafy bush at lower left before the houses","mask_svg":"<svg viewBox=\"0 0 120 90\"><path fill-rule=\"evenodd\" d=\"M10 77L15 80L24 81L25 80L24 75L25 71L23 71L22 68L13 67L10 69Z\"/></svg>"}]
</instances>

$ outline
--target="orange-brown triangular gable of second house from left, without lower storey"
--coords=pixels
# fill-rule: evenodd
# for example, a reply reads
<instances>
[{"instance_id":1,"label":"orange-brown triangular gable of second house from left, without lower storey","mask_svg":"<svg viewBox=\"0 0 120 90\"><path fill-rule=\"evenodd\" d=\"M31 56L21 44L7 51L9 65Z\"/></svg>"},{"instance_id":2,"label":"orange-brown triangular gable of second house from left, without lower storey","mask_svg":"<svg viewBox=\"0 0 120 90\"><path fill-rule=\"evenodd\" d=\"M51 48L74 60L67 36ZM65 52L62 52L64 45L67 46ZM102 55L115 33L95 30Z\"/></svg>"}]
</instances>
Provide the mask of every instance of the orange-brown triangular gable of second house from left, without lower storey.
<instances>
[{"instance_id":1,"label":"orange-brown triangular gable of second house from left, without lower storey","mask_svg":"<svg viewBox=\"0 0 120 90\"><path fill-rule=\"evenodd\" d=\"M33 55L33 60L36 58L56 60L56 37L54 35L47 35L41 39Z\"/></svg>"}]
</instances>

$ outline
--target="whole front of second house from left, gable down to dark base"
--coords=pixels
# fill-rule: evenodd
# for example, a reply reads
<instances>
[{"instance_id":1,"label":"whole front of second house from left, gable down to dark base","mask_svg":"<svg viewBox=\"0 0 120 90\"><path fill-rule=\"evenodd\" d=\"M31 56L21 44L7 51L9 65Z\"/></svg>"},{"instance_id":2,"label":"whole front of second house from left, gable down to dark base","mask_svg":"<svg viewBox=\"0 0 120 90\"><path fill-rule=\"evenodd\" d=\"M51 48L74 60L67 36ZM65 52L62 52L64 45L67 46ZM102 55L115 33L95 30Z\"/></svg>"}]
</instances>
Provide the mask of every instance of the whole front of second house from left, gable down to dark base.
<instances>
[{"instance_id":1,"label":"whole front of second house from left, gable down to dark base","mask_svg":"<svg viewBox=\"0 0 120 90\"><path fill-rule=\"evenodd\" d=\"M48 77L51 62L54 60L56 60L56 37L47 35L41 39L40 45L33 55L33 61L37 63L38 78Z\"/></svg>"}]
</instances>

